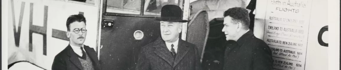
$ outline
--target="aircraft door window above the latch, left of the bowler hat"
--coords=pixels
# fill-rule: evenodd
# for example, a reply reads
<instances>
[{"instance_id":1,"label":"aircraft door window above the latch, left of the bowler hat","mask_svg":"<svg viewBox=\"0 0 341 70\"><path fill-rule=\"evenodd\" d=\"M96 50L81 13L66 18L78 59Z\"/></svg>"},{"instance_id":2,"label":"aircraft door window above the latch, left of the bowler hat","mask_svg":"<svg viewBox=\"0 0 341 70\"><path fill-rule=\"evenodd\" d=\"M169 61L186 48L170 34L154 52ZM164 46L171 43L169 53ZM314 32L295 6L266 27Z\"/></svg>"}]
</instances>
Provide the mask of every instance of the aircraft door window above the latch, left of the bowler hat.
<instances>
[{"instance_id":1,"label":"aircraft door window above the latch, left of the bowler hat","mask_svg":"<svg viewBox=\"0 0 341 70\"><path fill-rule=\"evenodd\" d=\"M141 0L107 0L106 12L140 14Z\"/></svg>"}]
</instances>

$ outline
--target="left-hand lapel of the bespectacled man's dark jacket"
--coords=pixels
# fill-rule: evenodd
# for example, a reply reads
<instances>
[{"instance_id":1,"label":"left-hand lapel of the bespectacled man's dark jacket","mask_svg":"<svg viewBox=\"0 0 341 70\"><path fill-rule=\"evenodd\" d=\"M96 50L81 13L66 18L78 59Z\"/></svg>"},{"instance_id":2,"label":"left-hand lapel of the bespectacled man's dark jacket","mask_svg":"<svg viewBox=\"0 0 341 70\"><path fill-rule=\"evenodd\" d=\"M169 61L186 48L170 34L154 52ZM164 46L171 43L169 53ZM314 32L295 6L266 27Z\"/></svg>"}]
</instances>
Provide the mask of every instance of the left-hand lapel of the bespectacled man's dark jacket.
<instances>
[{"instance_id":1,"label":"left-hand lapel of the bespectacled man's dark jacket","mask_svg":"<svg viewBox=\"0 0 341 70\"><path fill-rule=\"evenodd\" d=\"M77 66L80 70L83 70L82 64L80 63L77 54L73 51L73 49L71 48L70 44L67 46L68 48L70 48L69 52L68 52L68 56L70 56L70 61Z\"/></svg>"}]
</instances>

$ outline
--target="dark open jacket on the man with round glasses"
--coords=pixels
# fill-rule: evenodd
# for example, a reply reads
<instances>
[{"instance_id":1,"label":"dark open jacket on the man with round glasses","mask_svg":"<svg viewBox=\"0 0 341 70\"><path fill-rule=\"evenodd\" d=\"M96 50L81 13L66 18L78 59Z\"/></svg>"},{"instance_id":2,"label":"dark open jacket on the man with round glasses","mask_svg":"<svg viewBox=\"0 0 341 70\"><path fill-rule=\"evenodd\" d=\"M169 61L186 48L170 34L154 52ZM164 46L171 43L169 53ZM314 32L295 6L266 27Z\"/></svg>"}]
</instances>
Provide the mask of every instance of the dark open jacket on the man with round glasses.
<instances>
[{"instance_id":1,"label":"dark open jacket on the man with round glasses","mask_svg":"<svg viewBox=\"0 0 341 70\"><path fill-rule=\"evenodd\" d=\"M93 48L84 45L84 50L91 58L95 70L101 70L97 54ZM77 54L73 51L70 44L59 52L52 64L52 70L84 70Z\"/></svg>"}]
</instances>

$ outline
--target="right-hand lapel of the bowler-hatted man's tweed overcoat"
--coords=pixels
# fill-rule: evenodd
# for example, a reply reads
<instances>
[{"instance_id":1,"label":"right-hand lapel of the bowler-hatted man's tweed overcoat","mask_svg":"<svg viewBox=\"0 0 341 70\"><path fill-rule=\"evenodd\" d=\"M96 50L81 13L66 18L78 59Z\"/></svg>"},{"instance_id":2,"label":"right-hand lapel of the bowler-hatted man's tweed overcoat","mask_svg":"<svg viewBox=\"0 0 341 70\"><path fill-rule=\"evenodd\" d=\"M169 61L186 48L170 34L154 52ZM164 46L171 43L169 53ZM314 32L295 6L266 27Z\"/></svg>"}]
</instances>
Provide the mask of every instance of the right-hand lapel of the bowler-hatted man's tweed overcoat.
<instances>
[{"instance_id":1,"label":"right-hand lapel of the bowler-hatted man's tweed overcoat","mask_svg":"<svg viewBox=\"0 0 341 70\"><path fill-rule=\"evenodd\" d=\"M179 40L178 52L176 53L173 67L175 67L182 60L182 58L187 54L189 50L188 46L189 45L185 44L183 40Z\"/></svg>"}]
</instances>

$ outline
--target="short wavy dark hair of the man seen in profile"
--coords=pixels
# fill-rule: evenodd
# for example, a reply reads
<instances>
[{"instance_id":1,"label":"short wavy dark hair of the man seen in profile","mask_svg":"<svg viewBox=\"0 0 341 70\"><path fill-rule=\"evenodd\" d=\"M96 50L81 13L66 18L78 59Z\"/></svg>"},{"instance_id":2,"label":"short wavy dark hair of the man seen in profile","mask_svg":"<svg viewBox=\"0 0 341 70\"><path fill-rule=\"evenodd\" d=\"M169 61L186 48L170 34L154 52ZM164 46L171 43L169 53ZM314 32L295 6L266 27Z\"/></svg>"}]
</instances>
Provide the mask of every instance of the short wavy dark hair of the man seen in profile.
<instances>
[{"instance_id":1,"label":"short wavy dark hair of the man seen in profile","mask_svg":"<svg viewBox=\"0 0 341 70\"><path fill-rule=\"evenodd\" d=\"M234 8L227 9L224 12L224 17L226 16L232 17L234 24L241 22L242 25L244 26L243 29L249 29L250 16L249 16L249 11L246 10L245 8L234 7Z\"/></svg>"}]
</instances>

